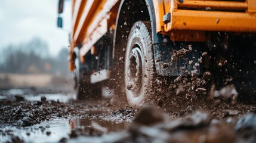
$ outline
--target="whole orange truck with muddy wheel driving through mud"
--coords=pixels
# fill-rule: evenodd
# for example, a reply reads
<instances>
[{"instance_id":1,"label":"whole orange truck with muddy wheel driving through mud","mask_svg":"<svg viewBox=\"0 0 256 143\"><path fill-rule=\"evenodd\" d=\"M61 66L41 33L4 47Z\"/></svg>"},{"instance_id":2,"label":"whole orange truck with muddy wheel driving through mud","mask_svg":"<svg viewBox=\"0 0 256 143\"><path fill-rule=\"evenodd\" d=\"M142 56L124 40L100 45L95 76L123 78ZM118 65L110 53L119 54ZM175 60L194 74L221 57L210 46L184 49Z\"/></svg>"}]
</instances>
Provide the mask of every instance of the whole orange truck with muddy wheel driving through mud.
<instances>
[{"instance_id":1,"label":"whole orange truck with muddy wheel driving through mud","mask_svg":"<svg viewBox=\"0 0 256 143\"><path fill-rule=\"evenodd\" d=\"M58 14L63 5L60 0ZM239 39L247 39L255 59L255 32L255 0L72 0L69 70L75 73L78 98L93 90L92 85L104 83L138 107L152 97L159 77L186 74L184 68L190 74L214 72L214 61L197 69L191 66L203 51L234 52L236 45L244 44ZM239 56L234 59L242 59ZM255 60L248 62L254 75Z\"/></svg>"}]
</instances>

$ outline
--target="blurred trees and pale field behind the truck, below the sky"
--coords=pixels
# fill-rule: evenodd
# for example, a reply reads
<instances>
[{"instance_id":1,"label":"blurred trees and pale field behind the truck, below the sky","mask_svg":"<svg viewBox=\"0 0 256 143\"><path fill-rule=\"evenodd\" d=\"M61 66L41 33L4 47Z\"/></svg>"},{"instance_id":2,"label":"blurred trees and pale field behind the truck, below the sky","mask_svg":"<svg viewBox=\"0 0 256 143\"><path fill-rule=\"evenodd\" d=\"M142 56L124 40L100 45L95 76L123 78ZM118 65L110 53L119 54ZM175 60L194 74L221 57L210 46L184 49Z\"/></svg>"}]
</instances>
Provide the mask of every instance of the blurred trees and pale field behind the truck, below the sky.
<instances>
[{"instance_id":1,"label":"blurred trees and pale field behind the truck, below the sky","mask_svg":"<svg viewBox=\"0 0 256 143\"><path fill-rule=\"evenodd\" d=\"M40 38L8 45L1 52L0 89L72 85L67 69L67 48L52 57L47 42Z\"/></svg>"}]
</instances>

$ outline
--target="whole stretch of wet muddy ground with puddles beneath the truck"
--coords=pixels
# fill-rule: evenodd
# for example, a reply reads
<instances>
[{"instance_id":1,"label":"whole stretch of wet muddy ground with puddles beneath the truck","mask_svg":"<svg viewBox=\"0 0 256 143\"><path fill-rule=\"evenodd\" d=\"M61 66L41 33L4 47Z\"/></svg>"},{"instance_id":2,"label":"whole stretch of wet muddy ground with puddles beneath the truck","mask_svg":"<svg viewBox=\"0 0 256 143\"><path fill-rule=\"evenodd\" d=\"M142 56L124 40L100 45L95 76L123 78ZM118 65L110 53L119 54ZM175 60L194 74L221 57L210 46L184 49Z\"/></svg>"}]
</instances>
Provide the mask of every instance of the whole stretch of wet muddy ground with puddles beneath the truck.
<instances>
[{"instance_id":1,"label":"whole stretch of wet muddy ground with puddles beneath the truck","mask_svg":"<svg viewBox=\"0 0 256 143\"><path fill-rule=\"evenodd\" d=\"M0 91L0 142L255 142L254 104L116 107L63 89ZM179 108L175 108L178 106Z\"/></svg>"}]
</instances>

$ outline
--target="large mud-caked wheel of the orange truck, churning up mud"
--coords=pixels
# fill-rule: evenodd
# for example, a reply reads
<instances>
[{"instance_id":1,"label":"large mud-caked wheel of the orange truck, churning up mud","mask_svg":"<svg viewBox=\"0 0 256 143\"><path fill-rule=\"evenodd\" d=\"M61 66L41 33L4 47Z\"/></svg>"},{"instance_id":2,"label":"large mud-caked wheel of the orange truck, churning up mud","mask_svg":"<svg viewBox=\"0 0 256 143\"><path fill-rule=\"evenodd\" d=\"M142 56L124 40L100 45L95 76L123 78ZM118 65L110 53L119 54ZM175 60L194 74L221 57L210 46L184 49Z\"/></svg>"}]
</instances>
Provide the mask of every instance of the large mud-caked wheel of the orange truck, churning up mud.
<instances>
[{"instance_id":1,"label":"large mud-caked wheel of the orange truck, churning up mud","mask_svg":"<svg viewBox=\"0 0 256 143\"><path fill-rule=\"evenodd\" d=\"M155 77L150 21L137 21L128 36L125 54L125 92L128 104L137 108L153 101Z\"/></svg>"}]
</instances>

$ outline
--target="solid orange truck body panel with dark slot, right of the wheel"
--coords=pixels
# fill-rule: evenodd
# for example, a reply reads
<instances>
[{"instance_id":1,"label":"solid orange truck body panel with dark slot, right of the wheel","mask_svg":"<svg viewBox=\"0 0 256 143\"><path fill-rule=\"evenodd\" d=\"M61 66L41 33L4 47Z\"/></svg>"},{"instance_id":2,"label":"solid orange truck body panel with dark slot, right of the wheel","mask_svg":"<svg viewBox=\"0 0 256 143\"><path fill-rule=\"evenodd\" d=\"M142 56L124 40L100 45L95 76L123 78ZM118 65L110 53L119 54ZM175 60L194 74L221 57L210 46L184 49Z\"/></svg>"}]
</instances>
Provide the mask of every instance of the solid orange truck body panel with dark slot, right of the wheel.
<instances>
[{"instance_id":1,"label":"solid orange truck body panel with dark slot, right of the wheel","mask_svg":"<svg viewBox=\"0 0 256 143\"><path fill-rule=\"evenodd\" d=\"M172 0L172 4L171 19L164 25L166 33L172 30L256 32L255 0Z\"/></svg>"}]
</instances>

